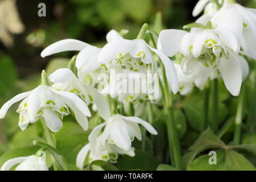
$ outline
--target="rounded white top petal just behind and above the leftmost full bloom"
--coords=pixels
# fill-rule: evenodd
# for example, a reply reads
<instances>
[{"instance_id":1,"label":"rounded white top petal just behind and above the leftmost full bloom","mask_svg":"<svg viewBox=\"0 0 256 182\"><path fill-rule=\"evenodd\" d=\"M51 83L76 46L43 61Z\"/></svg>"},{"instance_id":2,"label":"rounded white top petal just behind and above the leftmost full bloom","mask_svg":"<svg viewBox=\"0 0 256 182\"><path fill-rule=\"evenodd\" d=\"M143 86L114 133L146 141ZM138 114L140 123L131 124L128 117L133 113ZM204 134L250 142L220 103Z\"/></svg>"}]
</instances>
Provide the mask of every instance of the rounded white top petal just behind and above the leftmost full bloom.
<instances>
[{"instance_id":1,"label":"rounded white top petal just behind and above the leftmost full bloom","mask_svg":"<svg viewBox=\"0 0 256 182\"><path fill-rule=\"evenodd\" d=\"M75 78L75 74L68 68L60 68L49 75L49 80L53 83L67 83Z\"/></svg>"}]
</instances>

